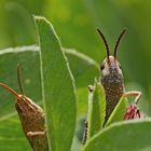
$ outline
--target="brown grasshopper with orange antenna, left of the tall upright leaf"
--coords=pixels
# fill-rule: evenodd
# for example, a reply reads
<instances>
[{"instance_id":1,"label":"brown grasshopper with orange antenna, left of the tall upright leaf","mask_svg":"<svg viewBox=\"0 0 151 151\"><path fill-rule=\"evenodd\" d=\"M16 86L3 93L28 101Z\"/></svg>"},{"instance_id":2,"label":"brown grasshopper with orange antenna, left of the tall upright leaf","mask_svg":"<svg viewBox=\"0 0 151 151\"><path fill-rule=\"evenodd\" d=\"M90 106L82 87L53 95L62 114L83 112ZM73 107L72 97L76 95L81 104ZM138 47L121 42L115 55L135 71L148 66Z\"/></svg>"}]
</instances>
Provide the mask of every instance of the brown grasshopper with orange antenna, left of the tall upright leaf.
<instances>
[{"instance_id":1,"label":"brown grasshopper with orange antenna, left of the tall upright leaf","mask_svg":"<svg viewBox=\"0 0 151 151\"><path fill-rule=\"evenodd\" d=\"M49 151L44 112L37 104L24 95L19 80L19 66L17 66L17 79L22 95L3 83L0 83L0 86L13 94L17 99L15 108L19 115L23 131L33 151Z\"/></svg>"}]
</instances>

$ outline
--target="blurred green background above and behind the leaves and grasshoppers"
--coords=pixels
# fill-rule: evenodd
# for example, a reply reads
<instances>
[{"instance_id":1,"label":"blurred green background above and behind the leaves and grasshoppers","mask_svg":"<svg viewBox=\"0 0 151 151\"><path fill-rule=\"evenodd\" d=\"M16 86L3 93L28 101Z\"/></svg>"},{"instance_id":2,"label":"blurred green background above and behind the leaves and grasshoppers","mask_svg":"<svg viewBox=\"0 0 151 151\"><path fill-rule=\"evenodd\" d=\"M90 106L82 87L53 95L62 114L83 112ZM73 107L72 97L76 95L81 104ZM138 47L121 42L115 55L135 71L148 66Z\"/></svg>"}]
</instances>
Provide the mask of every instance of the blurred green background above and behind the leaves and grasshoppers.
<instances>
[{"instance_id":1,"label":"blurred green background above and behind the leaves and grasshoppers","mask_svg":"<svg viewBox=\"0 0 151 151\"><path fill-rule=\"evenodd\" d=\"M105 33L111 51L121 30L126 28L118 59L126 91L142 91L140 104L150 114L150 8L148 0L0 0L0 49L38 43L32 14L43 15L52 22L63 46L76 49L100 64L106 51L96 28ZM79 96L83 94L82 88L85 87L81 87ZM87 99L87 96L81 97ZM81 104L84 107L86 102Z\"/></svg>"}]
</instances>

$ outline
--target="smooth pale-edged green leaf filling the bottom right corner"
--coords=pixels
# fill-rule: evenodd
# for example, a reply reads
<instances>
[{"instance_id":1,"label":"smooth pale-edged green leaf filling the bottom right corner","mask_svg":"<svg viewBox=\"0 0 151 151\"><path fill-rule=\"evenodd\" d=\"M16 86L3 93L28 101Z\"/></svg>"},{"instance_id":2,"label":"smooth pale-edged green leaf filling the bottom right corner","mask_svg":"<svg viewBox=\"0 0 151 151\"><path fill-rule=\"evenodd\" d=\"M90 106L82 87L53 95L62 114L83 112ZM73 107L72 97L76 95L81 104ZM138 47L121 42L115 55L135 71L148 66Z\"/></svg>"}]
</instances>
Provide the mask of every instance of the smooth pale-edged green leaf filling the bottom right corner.
<instances>
[{"instance_id":1,"label":"smooth pale-edged green leaf filling the bottom right corner","mask_svg":"<svg viewBox=\"0 0 151 151\"><path fill-rule=\"evenodd\" d=\"M119 122L95 135L82 151L150 151L151 119Z\"/></svg>"}]
</instances>

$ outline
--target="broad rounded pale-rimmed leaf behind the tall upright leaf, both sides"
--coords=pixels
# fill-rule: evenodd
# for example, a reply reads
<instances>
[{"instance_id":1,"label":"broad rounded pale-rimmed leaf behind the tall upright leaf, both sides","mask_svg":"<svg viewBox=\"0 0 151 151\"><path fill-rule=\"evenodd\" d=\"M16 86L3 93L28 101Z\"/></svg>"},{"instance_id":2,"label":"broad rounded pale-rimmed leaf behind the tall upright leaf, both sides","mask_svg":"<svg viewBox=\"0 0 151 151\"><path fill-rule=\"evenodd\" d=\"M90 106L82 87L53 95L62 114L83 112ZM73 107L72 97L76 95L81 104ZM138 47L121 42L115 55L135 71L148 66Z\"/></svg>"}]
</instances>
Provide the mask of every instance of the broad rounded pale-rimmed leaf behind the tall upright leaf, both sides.
<instances>
[{"instance_id":1,"label":"broad rounded pale-rimmed leaf behind the tall upright leaf, both sides","mask_svg":"<svg viewBox=\"0 0 151 151\"><path fill-rule=\"evenodd\" d=\"M68 56L69 64L73 76L77 81L78 90L86 90L86 92L81 93L79 98L79 110L80 112L84 112L83 108L86 108L85 104L87 102L86 93L87 88L81 86L87 86L91 81L94 81L94 76L99 73L97 65L94 60L88 58L87 56L73 51L73 50L64 50L66 55ZM74 60L74 61L72 61ZM13 90L19 93L17 78L16 78L16 66L17 63L22 66L22 85L24 87L24 92L26 96L30 97L33 101L39 102L42 100L41 97L41 80L40 80L40 67L39 67L39 46L28 45L28 46L19 46L19 47L10 47L0 51L0 82L3 82L11 86ZM78 66L79 65L79 66ZM84 71L78 71L79 67ZM87 74L87 78L85 72ZM85 81L84 81L85 79ZM81 85L81 81L83 80L83 84ZM81 87L81 88L80 88ZM83 101L85 99L85 101ZM81 101L82 100L82 101ZM22 131L20 122L15 114L15 99L10 93L0 87L0 150L11 150L20 151L26 148L26 150L30 150L27 139ZM82 110L82 111L81 111ZM15 122L13 116L15 114ZM9 125L9 126L8 126ZM12 129L12 127L15 127ZM19 135L19 136L18 136ZM9 138L11 140L9 140ZM10 142L11 141L11 142ZM10 146L5 146L9 142ZM17 146L19 142L19 146ZM8 145L8 143L6 143Z\"/></svg>"}]
</instances>

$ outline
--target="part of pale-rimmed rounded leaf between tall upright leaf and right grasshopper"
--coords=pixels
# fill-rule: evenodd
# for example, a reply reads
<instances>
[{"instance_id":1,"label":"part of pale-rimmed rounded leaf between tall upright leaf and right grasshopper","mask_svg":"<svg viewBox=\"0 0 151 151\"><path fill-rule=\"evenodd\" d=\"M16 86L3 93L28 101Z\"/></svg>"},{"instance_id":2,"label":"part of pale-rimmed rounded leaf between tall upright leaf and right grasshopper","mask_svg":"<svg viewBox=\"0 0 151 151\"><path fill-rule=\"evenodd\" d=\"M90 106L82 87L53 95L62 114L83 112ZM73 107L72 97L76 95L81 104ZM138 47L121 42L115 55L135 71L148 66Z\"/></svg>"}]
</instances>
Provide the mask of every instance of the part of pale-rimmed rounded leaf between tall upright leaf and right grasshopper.
<instances>
[{"instance_id":1,"label":"part of pale-rimmed rounded leaf between tall upright leaf and right grasshopper","mask_svg":"<svg viewBox=\"0 0 151 151\"><path fill-rule=\"evenodd\" d=\"M71 72L76 79L78 97L78 116L87 111L87 85L94 84L94 77L99 77L99 66L88 56L74 51L65 49Z\"/></svg>"}]
</instances>

